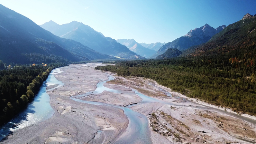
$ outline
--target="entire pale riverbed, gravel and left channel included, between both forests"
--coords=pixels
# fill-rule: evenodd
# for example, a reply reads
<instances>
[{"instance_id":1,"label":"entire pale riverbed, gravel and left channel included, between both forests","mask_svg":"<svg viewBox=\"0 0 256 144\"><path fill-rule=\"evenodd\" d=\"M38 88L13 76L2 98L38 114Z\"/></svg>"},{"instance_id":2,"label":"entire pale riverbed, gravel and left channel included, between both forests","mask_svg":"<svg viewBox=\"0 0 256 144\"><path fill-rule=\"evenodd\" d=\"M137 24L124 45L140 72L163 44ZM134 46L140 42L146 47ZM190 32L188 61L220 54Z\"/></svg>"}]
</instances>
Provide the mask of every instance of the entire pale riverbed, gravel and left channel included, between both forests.
<instances>
[{"instance_id":1,"label":"entire pale riverbed, gravel and left channel included, between both forests","mask_svg":"<svg viewBox=\"0 0 256 144\"><path fill-rule=\"evenodd\" d=\"M87 142L89 144L176 143L173 141L172 137L167 136L167 140L165 136L161 136L150 129L149 125L151 125L152 122L149 121L148 117L154 112L156 115L158 113L157 116L159 118L155 119L156 123L162 123L163 125L168 126L172 129L172 132L179 133L173 128L175 126L170 126L164 117L162 117L165 114L171 116L174 123L177 120L177 122L182 122L182 124L188 126L189 128L186 127L183 131L186 132L190 129L188 134L190 134L190 137L193 138L193 140L188 136L184 137L180 134L182 140L187 141L188 143L197 143L195 138L200 138L202 141L205 136L208 135L207 141L209 143L218 143L218 141L221 143L224 142L224 140L225 142L252 142L249 141L250 139L245 140L247 138L244 138L243 135L237 140L237 135L235 135L235 133L229 135L229 133L223 131L223 128L225 129L225 126L228 124L230 124L229 128L232 128L231 121L233 118L237 118L236 121L234 121L234 124L241 125L241 127L248 129L249 132L248 127L255 127L255 121L251 121L250 119L236 114L221 111L220 109L190 102L184 98L171 95L171 92L169 93L167 90L164 90L164 88L159 88L153 84L151 87L152 89L157 89L156 93L162 92L169 97L148 97L135 89L129 88L129 85L125 87L121 85L106 84L107 81L115 78L112 74L94 70L93 68L98 65L101 64L92 63L63 67L62 71L64 73L61 73L62 71L60 71L60 68L54 69L41 87L34 102L31 103L24 112L17 116L17 118L13 119L1 129L2 137L10 132L14 132L13 136L8 140L3 141L3 143L9 144L18 141L24 143L35 142L38 144L44 142ZM62 82L65 83L65 85ZM141 81L138 83L140 82ZM143 84L146 85L145 83ZM52 87L48 87L46 90L46 86L50 85ZM137 84L134 83L134 85ZM51 99L46 92L50 94ZM97 99L97 96L101 94L103 94L104 99ZM113 95L117 96L115 97ZM120 106L111 104L109 100L106 100L114 97L117 98L114 100L118 101L121 99L125 101L128 100L126 99L127 97L125 97L126 95L139 97L141 101L128 106ZM49 103L49 101L51 103ZM186 102L179 103L180 101ZM212 119L200 116L200 114L204 113L204 116L206 116L206 114L210 115L210 118ZM223 119L218 119L224 116L226 118L226 120L224 119L225 121ZM230 119L230 123L226 124L226 121L228 122L229 118L232 119ZM218 121L214 119L218 119ZM97 123L97 121L99 121L100 124ZM129 123L127 121L129 121ZM223 125L220 126L223 126L223 128L217 128L216 126L221 122L223 122ZM37 125L35 125L36 123ZM243 124L244 126L242 126ZM182 129L182 127L184 126L181 125L177 128ZM30 131L30 129L33 131ZM201 131L206 132L207 135L205 135L205 133L202 134ZM26 137L22 138L24 134L27 134L27 137L29 137L28 140Z\"/></svg>"}]
</instances>

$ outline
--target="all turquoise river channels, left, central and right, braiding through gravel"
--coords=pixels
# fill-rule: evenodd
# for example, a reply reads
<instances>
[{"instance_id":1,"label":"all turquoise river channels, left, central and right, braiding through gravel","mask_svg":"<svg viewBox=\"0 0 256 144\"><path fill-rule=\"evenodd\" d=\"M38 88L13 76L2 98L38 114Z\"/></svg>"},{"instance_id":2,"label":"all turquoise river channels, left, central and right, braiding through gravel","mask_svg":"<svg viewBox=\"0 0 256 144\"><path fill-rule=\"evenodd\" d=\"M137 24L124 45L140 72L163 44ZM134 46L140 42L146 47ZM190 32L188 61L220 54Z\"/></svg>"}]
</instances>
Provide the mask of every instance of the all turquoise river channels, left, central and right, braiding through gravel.
<instances>
[{"instance_id":1,"label":"all turquoise river channels, left, central and right, braiding through gravel","mask_svg":"<svg viewBox=\"0 0 256 144\"><path fill-rule=\"evenodd\" d=\"M49 104L49 100L50 100L49 95L46 92L64 85L61 81L58 81L54 77L55 74L58 74L61 72L62 71L60 71L60 68L56 68L56 69L52 70L52 72L49 74L48 78L44 82L43 86L40 88L39 93L35 96L34 101L32 103L30 103L28 105L28 107L23 112L21 112L16 118L12 119L9 123L7 123L3 127L1 127L0 141L9 133L15 132L20 128L24 128L24 127L30 126L32 124L44 121L44 120L50 118L54 114L54 110L52 109L51 105ZM93 104L93 105L112 106L112 107L121 108L122 110L124 110L124 113L129 120L129 124L126 129L126 132L124 132L119 137L119 139L115 142L116 144L122 144L122 143L124 143L124 144L131 144L131 143L150 144L150 143L152 143L151 138L150 138L150 129L148 126L147 117L143 114L132 111L129 108L132 105L129 105L126 107L121 107L121 106L117 106L117 105L111 105L111 104L100 103L100 102L89 102L89 101L84 101L84 100L79 99L80 97L88 96L91 94L100 94L104 90L112 92L112 93L121 93L118 90L110 89L103 85L107 81L110 81L113 79L115 79L115 78L113 76L109 75L108 80L100 81L97 84L97 88L93 92L87 92L83 95L72 96L71 99L73 99L77 102ZM46 86L51 86L51 85L56 85L56 86L54 88L46 90ZM173 105L173 106L176 105L173 103L171 104L171 103L165 102L163 100L145 96L143 94L140 94L135 89L132 89L132 91L134 91L135 94L137 94L140 98L142 98L141 102L139 102L138 104L159 102L159 103L169 104L169 105ZM168 92L165 92L165 93L167 96L172 96ZM133 104L133 105L135 105L135 104ZM176 106L184 106L184 105L177 104ZM203 107L204 107L204 109L220 111L219 109L216 109L216 108L205 107L205 106L203 106ZM223 112L223 111L221 111L221 112ZM229 113L229 112L223 112L223 113L227 113L234 117L237 117L240 119L245 119L246 121L256 124L256 121L254 121L252 119L245 118L245 117L239 116L237 114ZM99 131L99 135L100 135L100 133L102 133L102 131Z\"/></svg>"}]
</instances>

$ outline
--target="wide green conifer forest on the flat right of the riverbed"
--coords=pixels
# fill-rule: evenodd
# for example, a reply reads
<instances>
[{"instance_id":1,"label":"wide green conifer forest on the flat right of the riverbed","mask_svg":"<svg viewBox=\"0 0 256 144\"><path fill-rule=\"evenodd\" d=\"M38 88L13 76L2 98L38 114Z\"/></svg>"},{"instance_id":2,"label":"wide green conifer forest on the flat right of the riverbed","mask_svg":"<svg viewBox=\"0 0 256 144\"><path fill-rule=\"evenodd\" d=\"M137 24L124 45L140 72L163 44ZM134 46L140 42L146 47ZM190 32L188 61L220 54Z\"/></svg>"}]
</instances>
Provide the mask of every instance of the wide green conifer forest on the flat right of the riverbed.
<instances>
[{"instance_id":1,"label":"wide green conifer forest on the flat right of the riverbed","mask_svg":"<svg viewBox=\"0 0 256 144\"><path fill-rule=\"evenodd\" d=\"M256 45L214 56L106 61L95 69L153 79L186 96L256 114Z\"/></svg>"}]
</instances>

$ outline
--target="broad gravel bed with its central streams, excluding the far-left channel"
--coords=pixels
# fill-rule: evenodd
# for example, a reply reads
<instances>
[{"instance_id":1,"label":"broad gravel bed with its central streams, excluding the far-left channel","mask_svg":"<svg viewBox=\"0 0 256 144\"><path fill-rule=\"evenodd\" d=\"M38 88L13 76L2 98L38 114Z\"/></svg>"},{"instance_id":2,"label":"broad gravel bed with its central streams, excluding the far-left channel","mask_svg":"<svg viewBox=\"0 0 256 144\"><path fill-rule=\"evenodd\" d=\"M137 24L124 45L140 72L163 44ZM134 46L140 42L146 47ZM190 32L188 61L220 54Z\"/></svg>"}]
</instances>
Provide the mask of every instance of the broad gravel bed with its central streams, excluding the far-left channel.
<instances>
[{"instance_id":1,"label":"broad gravel bed with its central streams, excluding the far-left channel","mask_svg":"<svg viewBox=\"0 0 256 144\"><path fill-rule=\"evenodd\" d=\"M46 87L54 114L15 129L0 143L256 142L252 118L189 99L153 80L94 70L100 65L59 68L53 73L57 83Z\"/></svg>"}]
</instances>

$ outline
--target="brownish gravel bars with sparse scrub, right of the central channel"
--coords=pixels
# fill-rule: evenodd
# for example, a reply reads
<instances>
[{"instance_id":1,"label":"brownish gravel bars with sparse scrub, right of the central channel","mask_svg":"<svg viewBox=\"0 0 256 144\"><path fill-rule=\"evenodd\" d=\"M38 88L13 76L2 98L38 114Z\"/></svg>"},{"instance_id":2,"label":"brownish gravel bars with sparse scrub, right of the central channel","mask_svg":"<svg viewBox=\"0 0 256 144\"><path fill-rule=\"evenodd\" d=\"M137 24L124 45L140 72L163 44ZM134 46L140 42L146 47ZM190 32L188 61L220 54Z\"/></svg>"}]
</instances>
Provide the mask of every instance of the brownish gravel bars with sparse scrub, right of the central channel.
<instances>
[{"instance_id":1,"label":"brownish gravel bars with sparse scrub, right of the central channel","mask_svg":"<svg viewBox=\"0 0 256 144\"><path fill-rule=\"evenodd\" d=\"M115 74L112 74L115 75ZM145 114L152 129L155 143L253 143L256 142L256 125L243 117L206 107L207 103L190 102L188 97L158 85L155 81L140 77L120 77L108 81L106 87L122 85L140 93L161 99L168 104L146 103L132 109ZM167 97L166 92L172 94ZM199 100L194 100L199 101ZM164 136L168 142L161 138ZM242 141L248 140L251 142ZM154 141L153 141L154 142Z\"/></svg>"}]
</instances>

